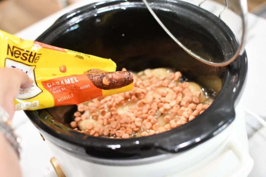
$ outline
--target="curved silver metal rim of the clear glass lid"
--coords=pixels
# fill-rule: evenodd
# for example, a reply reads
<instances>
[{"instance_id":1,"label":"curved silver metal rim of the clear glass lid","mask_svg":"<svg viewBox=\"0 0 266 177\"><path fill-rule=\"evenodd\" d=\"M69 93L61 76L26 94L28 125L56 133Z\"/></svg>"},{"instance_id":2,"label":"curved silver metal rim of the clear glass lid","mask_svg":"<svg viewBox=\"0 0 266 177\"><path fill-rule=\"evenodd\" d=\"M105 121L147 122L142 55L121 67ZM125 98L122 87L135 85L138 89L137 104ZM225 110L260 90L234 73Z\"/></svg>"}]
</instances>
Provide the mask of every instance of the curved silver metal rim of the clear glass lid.
<instances>
[{"instance_id":1,"label":"curved silver metal rim of the clear glass lid","mask_svg":"<svg viewBox=\"0 0 266 177\"><path fill-rule=\"evenodd\" d=\"M189 48L188 46L186 46L186 43L184 42L180 42L180 40L178 40L176 38L175 35L173 35L171 33L171 31L165 26L164 22L161 21L161 19L156 15L156 13L153 11L153 9L151 8L151 6L156 6L156 4L154 3L154 0L142 0L143 3L146 5L146 7L148 8L148 10L150 11L150 13L153 15L153 17L155 18L155 20L160 24L160 26L162 26L162 28L164 29L164 31L167 32L167 34L182 48L184 49L188 54L190 54L191 56L193 56L194 58L198 59L199 61L202 61L203 63L209 64L211 66L226 66L230 63L232 63L239 55L242 55L245 51L245 42L246 42L246 33L247 33L247 13L248 13L248 8L247 8L247 1L246 0L235 0L235 1L239 1L238 3L232 3L232 8L235 9L235 11L237 11L237 13L239 13L238 15L241 17L241 37L238 39L238 43L239 46L237 48L237 50L234 52L234 54L230 53L224 54L224 59L223 61L213 61L210 58L206 58L206 56L201 55L199 53L194 53L192 48ZM162 0L164 1L164 0ZM192 0L193 1L193 0ZM199 3L199 7L202 5L202 3L204 3L206 0L202 0ZM208 0L210 1L210 0ZM173 3L174 1L169 1L166 0L165 3ZM227 4L227 0L225 0L225 7L224 9L220 12L219 14L219 18L221 19L222 14L225 12L225 10L227 10L228 8L228 4Z\"/></svg>"}]
</instances>

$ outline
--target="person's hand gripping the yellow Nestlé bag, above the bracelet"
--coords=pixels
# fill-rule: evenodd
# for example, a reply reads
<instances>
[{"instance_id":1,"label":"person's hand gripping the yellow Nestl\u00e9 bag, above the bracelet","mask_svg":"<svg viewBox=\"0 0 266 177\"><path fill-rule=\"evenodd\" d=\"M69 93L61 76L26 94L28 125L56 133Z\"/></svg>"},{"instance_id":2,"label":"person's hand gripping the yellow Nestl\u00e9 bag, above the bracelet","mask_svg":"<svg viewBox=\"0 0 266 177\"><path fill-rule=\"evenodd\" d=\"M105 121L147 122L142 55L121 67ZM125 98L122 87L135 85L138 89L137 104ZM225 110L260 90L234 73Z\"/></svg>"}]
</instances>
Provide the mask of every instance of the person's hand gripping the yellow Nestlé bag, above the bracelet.
<instances>
[{"instance_id":1,"label":"person's hand gripping the yellow Nestl\u00e9 bag, above the bracelet","mask_svg":"<svg viewBox=\"0 0 266 177\"><path fill-rule=\"evenodd\" d=\"M0 68L0 106L5 109L10 119L15 112L14 99L20 88L28 88L33 81L28 75L14 68Z\"/></svg>"}]
</instances>

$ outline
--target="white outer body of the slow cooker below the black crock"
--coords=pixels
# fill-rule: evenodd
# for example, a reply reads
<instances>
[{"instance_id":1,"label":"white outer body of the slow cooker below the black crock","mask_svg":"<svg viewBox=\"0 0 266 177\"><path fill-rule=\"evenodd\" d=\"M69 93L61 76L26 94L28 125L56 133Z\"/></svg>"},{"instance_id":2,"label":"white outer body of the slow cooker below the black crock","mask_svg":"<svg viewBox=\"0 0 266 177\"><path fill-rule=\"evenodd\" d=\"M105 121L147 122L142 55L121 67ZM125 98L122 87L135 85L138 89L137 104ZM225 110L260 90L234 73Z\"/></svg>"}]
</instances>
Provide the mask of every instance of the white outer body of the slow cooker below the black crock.
<instances>
[{"instance_id":1,"label":"white outer body of the slow cooker below the black crock","mask_svg":"<svg viewBox=\"0 0 266 177\"><path fill-rule=\"evenodd\" d=\"M66 177L195 177L195 176L248 176L253 159L248 153L248 139L245 128L244 109L240 100L235 108L235 120L208 141L187 151L165 154L165 157L149 157L153 163L136 165L134 160L124 160L124 166L97 164L78 159L65 153L48 140L59 166ZM161 156L161 155L160 155ZM158 159L165 159L158 161ZM108 162L110 164L110 162ZM46 174L51 177L51 171Z\"/></svg>"}]
</instances>

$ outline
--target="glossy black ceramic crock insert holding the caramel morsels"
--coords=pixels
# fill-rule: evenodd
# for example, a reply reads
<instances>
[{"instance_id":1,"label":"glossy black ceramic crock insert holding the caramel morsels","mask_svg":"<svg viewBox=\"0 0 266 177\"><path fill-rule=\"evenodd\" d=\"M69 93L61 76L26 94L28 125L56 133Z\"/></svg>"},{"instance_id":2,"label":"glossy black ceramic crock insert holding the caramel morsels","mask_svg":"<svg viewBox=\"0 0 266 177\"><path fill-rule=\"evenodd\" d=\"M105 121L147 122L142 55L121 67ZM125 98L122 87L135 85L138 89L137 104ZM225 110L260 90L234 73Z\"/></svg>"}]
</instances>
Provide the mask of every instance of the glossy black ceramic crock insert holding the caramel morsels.
<instances>
[{"instance_id":1,"label":"glossy black ceramic crock insert holding the caramel morsels","mask_svg":"<svg viewBox=\"0 0 266 177\"><path fill-rule=\"evenodd\" d=\"M234 35L218 17L183 1L176 1L179 14L159 9L169 18L180 35L199 49L211 47L212 57L221 54L220 45L235 50ZM191 16L191 14L194 14ZM211 35L219 33L217 39ZM204 43L199 43L199 36ZM223 39L223 40L221 40ZM207 141L223 131L235 117L234 106L244 85L246 53L225 67L213 67L197 61L184 52L161 29L145 5L139 0L107 1L89 4L60 17L37 41L111 58L117 70L132 71L167 67L181 71L217 95L213 104L189 123L173 130L148 137L106 139L75 132L67 126L75 105L25 111L32 123L53 144L81 159L132 160L165 153L178 153Z\"/></svg>"}]
</instances>

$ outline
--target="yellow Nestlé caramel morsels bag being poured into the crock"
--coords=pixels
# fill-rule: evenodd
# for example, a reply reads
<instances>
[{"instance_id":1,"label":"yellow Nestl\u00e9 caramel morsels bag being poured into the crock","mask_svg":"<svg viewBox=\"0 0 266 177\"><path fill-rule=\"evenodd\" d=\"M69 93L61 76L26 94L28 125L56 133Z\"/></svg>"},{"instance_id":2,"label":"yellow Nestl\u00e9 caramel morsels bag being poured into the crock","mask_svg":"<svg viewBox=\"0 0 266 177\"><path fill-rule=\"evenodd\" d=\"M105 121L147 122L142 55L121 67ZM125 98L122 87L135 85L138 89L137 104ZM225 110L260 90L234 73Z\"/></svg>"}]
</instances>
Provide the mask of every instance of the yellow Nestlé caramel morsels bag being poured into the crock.
<instances>
[{"instance_id":1,"label":"yellow Nestl\u00e9 caramel morsels bag being poured into the crock","mask_svg":"<svg viewBox=\"0 0 266 177\"><path fill-rule=\"evenodd\" d=\"M0 67L20 69L33 80L30 88L20 89L14 100L16 110L74 105L133 88L132 73L115 72L111 59L21 39L1 30L0 45Z\"/></svg>"}]
</instances>

